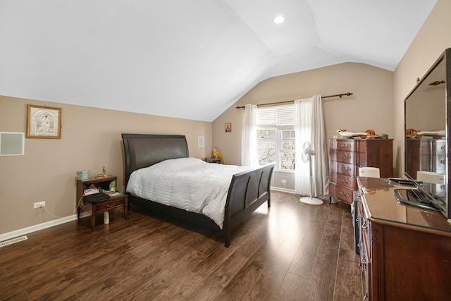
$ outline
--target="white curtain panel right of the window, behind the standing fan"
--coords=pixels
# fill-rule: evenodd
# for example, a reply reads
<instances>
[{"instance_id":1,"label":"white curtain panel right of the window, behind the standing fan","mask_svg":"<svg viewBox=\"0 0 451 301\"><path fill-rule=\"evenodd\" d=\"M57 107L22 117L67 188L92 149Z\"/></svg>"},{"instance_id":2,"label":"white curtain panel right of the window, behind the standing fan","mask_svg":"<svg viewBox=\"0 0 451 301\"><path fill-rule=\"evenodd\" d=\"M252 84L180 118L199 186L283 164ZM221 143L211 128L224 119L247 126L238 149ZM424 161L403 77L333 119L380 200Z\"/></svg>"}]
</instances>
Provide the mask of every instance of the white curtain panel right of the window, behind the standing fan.
<instances>
[{"instance_id":1,"label":"white curtain panel right of the window, behind the standing fan","mask_svg":"<svg viewBox=\"0 0 451 301\"><path fill-rule=\"evenodd\" d=\"M299 195L319 197L329 193L329 171L327 157L326 127L324 125L323 102L320 95L295 101L296 120L296 168L295 192ZM311 156L310 180L309 162L303 162L301 156L304 142L310 142L316 151Z\"/></svg>"}]
</instances>

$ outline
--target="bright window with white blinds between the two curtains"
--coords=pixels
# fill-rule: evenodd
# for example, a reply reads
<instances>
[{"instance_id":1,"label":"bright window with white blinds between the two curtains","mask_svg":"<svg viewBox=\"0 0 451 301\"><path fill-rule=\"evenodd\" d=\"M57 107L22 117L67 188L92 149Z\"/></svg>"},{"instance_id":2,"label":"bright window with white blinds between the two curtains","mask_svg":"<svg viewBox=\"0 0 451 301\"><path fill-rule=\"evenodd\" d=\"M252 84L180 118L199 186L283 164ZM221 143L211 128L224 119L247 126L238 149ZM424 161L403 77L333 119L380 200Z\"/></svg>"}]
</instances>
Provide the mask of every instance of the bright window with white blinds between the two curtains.
<instances>
[{"instance_id":1,"label":"bright window with white blinds between the two curtains","mask_svg":"<svg viewBox=\"0 0 451 301\"><path fill-rule=\"evenodd\" d=\"M276 161L276 169L295 170L295 106L257 109L257 149L259 164Z\"/></svg>"}]
</instances>

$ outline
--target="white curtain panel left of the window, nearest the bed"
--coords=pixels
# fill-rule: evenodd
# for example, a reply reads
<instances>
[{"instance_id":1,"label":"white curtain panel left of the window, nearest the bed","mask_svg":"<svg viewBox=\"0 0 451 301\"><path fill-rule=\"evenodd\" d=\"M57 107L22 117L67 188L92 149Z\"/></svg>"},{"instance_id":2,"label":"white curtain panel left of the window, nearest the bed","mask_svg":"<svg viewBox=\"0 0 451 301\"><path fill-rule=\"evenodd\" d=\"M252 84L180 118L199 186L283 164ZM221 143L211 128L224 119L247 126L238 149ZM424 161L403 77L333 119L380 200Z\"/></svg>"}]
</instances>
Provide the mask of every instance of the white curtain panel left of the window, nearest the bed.
<instances>
[{"instance_id":1,"label":"white curtain panel left of the window, nearest the bed","mask_svg":"<svg viewBox=\"0 0 451 301\"><path fill-rule=\"evenodd\" d=\"M257 160L257 105L246 104L242 121L241 165L258 166Z\"/></svg>"}]
</instances>

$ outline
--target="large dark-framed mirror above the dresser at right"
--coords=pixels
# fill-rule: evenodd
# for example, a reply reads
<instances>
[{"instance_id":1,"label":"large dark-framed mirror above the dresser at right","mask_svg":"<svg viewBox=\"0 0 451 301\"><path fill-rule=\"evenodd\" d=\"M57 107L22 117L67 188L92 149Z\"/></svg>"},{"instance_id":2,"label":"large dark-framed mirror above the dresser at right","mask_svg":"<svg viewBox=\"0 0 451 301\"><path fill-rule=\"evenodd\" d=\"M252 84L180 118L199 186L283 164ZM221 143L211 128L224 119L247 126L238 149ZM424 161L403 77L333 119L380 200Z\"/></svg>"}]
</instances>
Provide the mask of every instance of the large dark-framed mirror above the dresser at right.
<instances>
[{"instance_id":1,"label":"large dark-framed mirror above the dresser at right","mask_svg":"<svg viewBox=\"0 0 451 301\"><path fill-rule=\"evenodd\" d=\"M431 200L450 218L447 206L447 51L404 101L405 174L438 198Z\"/></svg>"}]
</instances>

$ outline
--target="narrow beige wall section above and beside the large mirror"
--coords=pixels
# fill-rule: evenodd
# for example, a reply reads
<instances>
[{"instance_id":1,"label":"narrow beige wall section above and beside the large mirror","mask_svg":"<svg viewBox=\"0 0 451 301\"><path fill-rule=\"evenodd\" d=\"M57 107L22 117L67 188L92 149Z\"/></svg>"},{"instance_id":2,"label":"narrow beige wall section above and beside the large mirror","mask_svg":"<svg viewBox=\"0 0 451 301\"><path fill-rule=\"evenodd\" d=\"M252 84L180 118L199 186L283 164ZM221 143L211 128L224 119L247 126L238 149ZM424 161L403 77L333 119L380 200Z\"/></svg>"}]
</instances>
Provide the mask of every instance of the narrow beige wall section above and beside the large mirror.
<instances>
[{"instance_id":1,"label":"narrow beige wall section above and beside the large mirror","mask_svg":"<svg viewBox=\"0 0 451 301\"><path fill-rule=\"evenodd\" d=\"M438 0L395 70L395 171L404 174L404 98L438 56L451 47L451 1ZM443 100L445 101L445 100Z\"/></svg>"}]
</instances>

